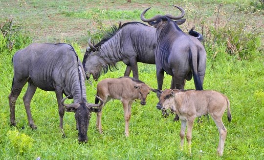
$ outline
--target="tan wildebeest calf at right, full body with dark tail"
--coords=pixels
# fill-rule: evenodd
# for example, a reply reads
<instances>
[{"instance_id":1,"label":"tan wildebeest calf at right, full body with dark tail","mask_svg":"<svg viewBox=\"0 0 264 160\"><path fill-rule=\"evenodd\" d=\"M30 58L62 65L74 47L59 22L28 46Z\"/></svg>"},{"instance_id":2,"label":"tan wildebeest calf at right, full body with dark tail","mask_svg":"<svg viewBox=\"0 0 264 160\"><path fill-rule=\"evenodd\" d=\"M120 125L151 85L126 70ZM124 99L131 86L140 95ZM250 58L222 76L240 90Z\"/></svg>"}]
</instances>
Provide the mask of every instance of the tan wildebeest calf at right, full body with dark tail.
<instances>
[{"instance_id":1,"label":"tan wildebeest calf at right, full body with dark tail","mask_svg":"<svg viewBox=\"0 0 264 160\"><path fill-rule=\"evenodd\" d=\"M157 103L158 109L170 109L175 112L181 121L180 128L180 146L183 149L185 128L187 124L186 139L189 144L191 154L192 128L194 119L198 116L209 115L215 121L219 130L219 145L217 152L219 156L223 155L224 141L227 130L222 122L222 116L227 108L227 118L231 121L231 112L229 100L223 94L212 90L156 90L160 95Z\"/></svg>"}]
</instances>

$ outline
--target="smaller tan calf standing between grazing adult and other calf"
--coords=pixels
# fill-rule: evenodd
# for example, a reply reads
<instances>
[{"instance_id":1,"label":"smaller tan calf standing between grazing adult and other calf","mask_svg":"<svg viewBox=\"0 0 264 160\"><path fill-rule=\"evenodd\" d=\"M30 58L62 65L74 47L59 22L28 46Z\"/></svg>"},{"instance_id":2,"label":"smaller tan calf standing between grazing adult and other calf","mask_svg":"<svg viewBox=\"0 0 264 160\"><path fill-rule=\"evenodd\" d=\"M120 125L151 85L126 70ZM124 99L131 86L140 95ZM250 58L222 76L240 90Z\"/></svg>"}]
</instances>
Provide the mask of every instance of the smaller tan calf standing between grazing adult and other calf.
<instances>
[{"instance_id":1,"label":"smaller tan calf standing between grazing adult and other calf","mask_svg":"<svg viewBox=\"0 0 264 160\"><path fill-rule=\"evenodd\" d=\"M129 136L129 120L131 118L131 105L134 100L141 100L140 104L145 105L146 99L150 91L155 90L149 87L141 80L131 77L120 77L118 79L105 79L97 84L97 96L103 101L104 105L113 99L120 100L123 103L124 118L125 118L125 135ZM95 98L95 103L98 99ZM100 133L102 133L102 110L97 113L96 126Z\"/></svg>"}]
</instances>

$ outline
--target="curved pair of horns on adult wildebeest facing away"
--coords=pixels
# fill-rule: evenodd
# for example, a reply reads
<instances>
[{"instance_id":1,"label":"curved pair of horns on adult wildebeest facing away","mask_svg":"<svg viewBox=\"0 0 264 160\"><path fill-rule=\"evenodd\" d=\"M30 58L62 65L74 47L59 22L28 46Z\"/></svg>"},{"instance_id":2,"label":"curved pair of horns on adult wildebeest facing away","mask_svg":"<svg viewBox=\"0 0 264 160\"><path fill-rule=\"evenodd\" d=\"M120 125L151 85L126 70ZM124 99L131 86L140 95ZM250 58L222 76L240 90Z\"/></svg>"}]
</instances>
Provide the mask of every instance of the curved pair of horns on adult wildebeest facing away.
<instances>
[{"instance_id":1,"label":"curved pair of horns on adult wildebeest facing away","mask_svg":"<svg viewBox=\"0 0 264 160\"><path fill-rule=\"evenodd\" d=\"M181 11L181 15L180 15L180 16L172 16L172 15L170 15L170 14L167 14L167 15L165 15L165 16L167 16L168 18L170 18L170 19L172 19L172 20L179 20L179 19L183 18L184 15L185 15L185 11L184 11L184 9L181 8L181 7L179 7L179 6L176 6L176 5L173 5L173 6L176 7L176 8L178 8L178 9ZM145 13L146 13L150 8L151 8L151 7L145 9L145 10L141 13L140 18L141 18L142 21L144 21L144 22L152 22L152 21L155 21L155 20L157 20L158 18L162 17L162 16L160 16L160 15L156 15L156 16L154 16L154 17L151 18L151 19L145 19L145 16L144 16L144 15L145 15Z\"/></svg>"}]
</instances>

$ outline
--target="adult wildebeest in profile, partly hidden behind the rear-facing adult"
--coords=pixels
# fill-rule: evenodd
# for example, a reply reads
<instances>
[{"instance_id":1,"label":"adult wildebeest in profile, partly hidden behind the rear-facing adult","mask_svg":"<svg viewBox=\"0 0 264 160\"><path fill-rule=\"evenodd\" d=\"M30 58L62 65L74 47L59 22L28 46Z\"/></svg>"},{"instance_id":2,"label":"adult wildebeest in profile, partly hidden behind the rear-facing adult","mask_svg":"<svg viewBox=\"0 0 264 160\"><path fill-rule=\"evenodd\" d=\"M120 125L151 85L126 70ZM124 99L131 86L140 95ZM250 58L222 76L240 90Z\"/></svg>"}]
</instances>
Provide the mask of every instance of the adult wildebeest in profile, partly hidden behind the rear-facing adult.
<instances>
[{"instance_id":1,"label":"adult wildebeest in profile, partly hidden behind the rear-facing adult","mask_svg":"<svg viewBox=\"0 0 264 160\"><path fill-rule=\"evenodd\" d=\"M185 19L176 20L177 25ZM133 78L138 79L137 62L155 64L156 29L140 22L128 22L119 27L112 27L112 33L99 43L93 45L90 40L83 59L83 66L87 76L98 80L102 72L115 69L116 62L123 61L126 65L124 76L129 76L132 70ZM193 31L190 35L202 40L202 36Z\"/></svg>"}]
</instances>

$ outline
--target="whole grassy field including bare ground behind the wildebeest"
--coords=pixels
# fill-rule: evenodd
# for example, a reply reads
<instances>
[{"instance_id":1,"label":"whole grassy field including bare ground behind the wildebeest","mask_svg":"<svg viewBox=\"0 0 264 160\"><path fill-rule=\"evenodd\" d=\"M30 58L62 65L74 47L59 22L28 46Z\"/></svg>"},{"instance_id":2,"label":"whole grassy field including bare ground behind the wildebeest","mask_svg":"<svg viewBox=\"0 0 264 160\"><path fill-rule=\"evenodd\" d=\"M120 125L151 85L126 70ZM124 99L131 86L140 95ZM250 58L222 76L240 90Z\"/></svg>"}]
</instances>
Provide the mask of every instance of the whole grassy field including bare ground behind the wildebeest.
<instances>
[{"instance_id":1,"label":"whole grassy field including bare ground behind the wildebeest","mask_svg":"<svg viewBox=\"0 0 264 160\"><path fill-rule=\"evenodd\" d=\"M264 10L259 0L1 0L0 24L8 33L0 32L0 159L1 160L263 160L264 159ZM212 119L195 123L192 156L187 141L179 150L180 122L174 115L164 119L156 109L158 99L150 93L147 104L132 105L130 136L125 137L125 120L120 101L111 100L103 109L100 135L92 114L88 143L79 144L72 113L64 117L66 138L59 128L58 106L54 92L37 89L31 112L37 130L27 125L23 106L23 88L16 103L17 127L9 124L8 95L11 90L12 56L30 42L67 42L82 60L89 37L95 42L119 21L141 21L140 13L152 7L148 17L156 14L178 14L171 4L182 6L187 19L180 27L187 32L196 26L203 33L207 51L204 89L225 94L230 100L232 121L226 114L223 122L227 138L223 157L216 154L219 133ZM11 20L12 17L12 20ZM8 26L11 26L8 28ZM4 28L0 25L1 31ZM123 76L125 65L101 76ZM139 64L139 78L156 88L155 66ZM163 88L170 87L165 75ZM97 81L87 81L87 98L94 102ZM193 80L186 89L193 89Z\"/></svg>"}]
</instances>

